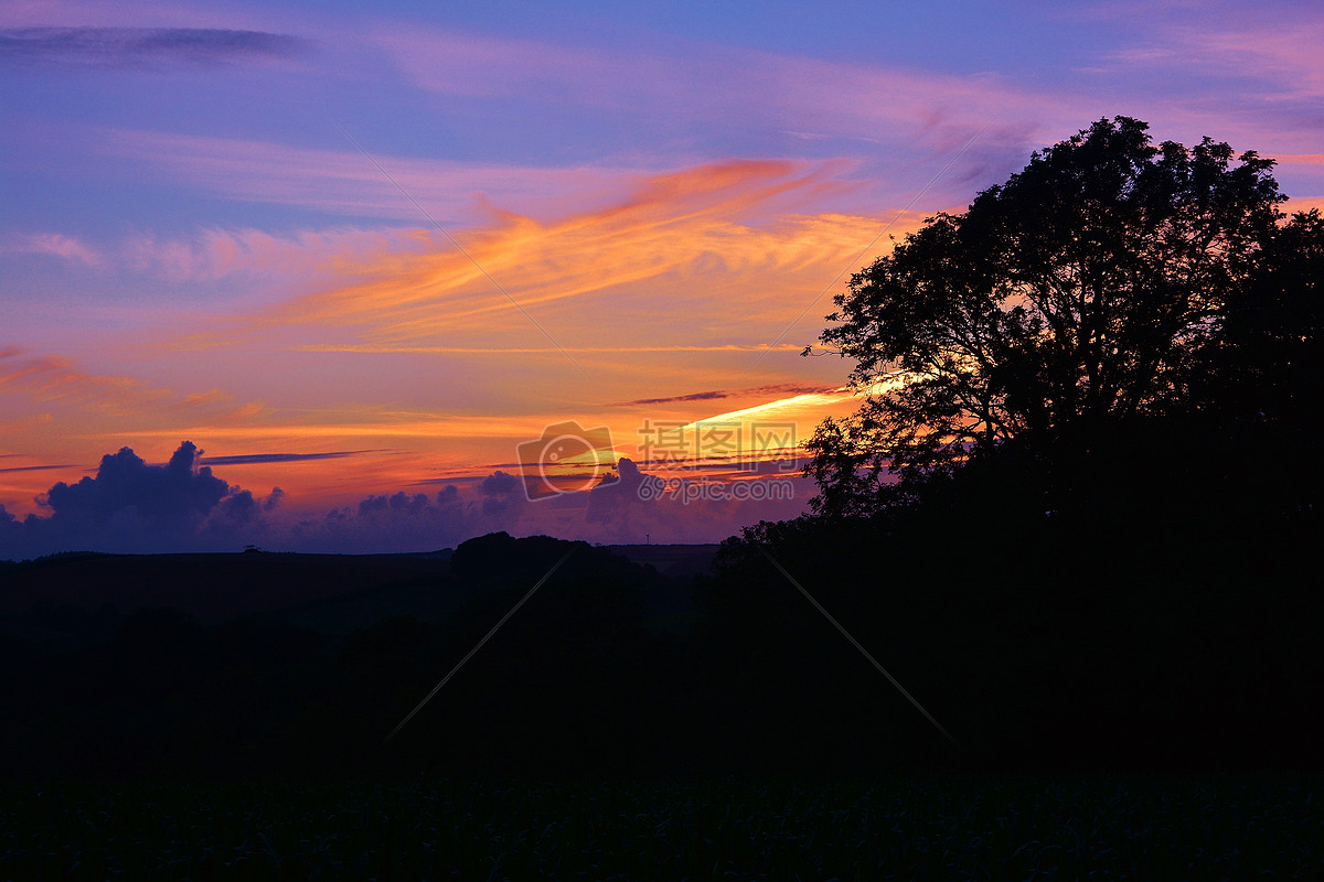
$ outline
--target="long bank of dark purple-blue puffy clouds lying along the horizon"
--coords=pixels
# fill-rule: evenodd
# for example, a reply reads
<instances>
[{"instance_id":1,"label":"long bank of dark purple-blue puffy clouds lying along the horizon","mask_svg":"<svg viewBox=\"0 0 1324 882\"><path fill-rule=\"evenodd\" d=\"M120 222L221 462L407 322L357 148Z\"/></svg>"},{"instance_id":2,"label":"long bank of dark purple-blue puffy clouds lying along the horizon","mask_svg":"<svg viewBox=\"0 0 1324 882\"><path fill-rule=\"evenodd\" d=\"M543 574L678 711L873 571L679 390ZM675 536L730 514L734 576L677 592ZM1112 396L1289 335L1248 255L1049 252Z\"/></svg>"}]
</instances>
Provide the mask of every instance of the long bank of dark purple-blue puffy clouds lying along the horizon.
<instances>
[{"instance_id":1,"label":"long bank of dark purple-blue puffy clouds lying along the horizon","mask_svg":"<svg viewBox=\"0 0 1324 882\"><path fill-rule=\"evenodd\" d=\"M320 513L289 510L273 488L260 497L203 465L185 442L166 464L130 448L102 458L95 476L56 484L46 514L20 520L0 506L0 559L68 550L119 553L269 550L340 554L412 553L455 547L487 533L555 536L605 543L718 542L741 524L800 514L813 492L786 464L685 481L617 463L589 491L528 500L524 479L494 471L462 492L375 493Z\"/></svg>"}]
</instances>

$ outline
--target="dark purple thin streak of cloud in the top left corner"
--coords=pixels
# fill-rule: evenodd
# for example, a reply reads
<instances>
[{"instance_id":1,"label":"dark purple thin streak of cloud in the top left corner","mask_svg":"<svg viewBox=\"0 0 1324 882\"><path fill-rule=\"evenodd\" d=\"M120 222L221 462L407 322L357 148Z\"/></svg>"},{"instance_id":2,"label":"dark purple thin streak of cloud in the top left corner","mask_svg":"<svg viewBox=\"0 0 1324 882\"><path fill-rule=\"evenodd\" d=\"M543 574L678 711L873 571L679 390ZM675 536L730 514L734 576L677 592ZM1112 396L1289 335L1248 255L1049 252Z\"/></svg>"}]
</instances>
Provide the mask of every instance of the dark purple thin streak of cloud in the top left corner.
<instances>
[{"instance_id":1,"label":"dark purple thin streak of cloud in the top left corner","mask_svg":"<svg viewBox=\"0 0 1324 882\"><path fill-rule=\"evenodd\" d=\"M285 60L311 42L282 33L220 28L5 28L0 65L154 69Z\"/></svg>"}]
</instances>

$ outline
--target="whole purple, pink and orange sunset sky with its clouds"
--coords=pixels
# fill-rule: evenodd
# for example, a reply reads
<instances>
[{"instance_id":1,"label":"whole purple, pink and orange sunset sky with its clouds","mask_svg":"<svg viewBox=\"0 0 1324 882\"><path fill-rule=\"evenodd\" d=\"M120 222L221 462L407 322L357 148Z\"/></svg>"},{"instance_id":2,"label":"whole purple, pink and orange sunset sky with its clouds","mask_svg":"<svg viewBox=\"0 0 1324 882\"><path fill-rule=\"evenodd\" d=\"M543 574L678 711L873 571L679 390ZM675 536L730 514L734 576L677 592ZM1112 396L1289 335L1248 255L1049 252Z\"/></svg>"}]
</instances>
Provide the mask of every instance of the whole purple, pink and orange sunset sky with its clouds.
<instances>
[{"instance_id":1,"label":"whole purple, pink and orange sunset sky with its clouds","mask_svg":"<svg viewBox=\"0 0 1324 882\"><path fill-rule=\"evenodd\" d=\"M1103 116L1324 205L1324 8L0 3L0 559L715 542L892 237Z\"/></svg>"}]
</instances>

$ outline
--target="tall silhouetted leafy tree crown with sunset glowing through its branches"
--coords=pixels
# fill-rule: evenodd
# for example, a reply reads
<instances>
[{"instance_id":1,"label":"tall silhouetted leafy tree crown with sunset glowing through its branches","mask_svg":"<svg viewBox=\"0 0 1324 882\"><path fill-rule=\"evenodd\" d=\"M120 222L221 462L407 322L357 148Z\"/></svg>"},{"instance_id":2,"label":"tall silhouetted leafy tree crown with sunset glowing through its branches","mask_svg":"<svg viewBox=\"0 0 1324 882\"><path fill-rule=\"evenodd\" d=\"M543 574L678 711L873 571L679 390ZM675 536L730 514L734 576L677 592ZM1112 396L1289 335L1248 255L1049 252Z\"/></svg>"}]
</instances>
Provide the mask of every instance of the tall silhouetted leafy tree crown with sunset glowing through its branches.
<instances>
[{"instance_id":1,"label":"tall silhouetted leafy tree crown with sunset glowing through its branches","mask_svg":"<svg viewBox=\"0 0 1324 882\"><path fill-rule=\"evenodd\" d=\"M1189 411L1229 304L1254 311L1267 284L1286 197L1271 160L1147 128L1099 120L851 278L822 340L867 397L809 442L817 513L875 513L890 473L1088 456Z\"/></svg>"}]
</instances>

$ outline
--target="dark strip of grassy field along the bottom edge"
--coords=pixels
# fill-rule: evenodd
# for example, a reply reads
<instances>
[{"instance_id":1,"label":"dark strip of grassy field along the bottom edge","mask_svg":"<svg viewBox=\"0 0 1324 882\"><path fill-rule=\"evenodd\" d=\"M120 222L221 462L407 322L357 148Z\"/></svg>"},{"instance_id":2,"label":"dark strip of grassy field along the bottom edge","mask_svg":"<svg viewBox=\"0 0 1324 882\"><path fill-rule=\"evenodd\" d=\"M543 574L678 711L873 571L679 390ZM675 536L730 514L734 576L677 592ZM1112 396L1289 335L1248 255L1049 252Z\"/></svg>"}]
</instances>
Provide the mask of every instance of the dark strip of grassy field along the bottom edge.
<instances>
[{"instance_id":1,"label":"dark strip of grassy field along the bottom edge","mask_svg":"<svg viewBox=\"0 0 1324 882\"><path fill-rule=\"evenodd\" d=\"M11 785L0 877L1313 879L1320 783Z\"/></svg>"}]
</instances>

